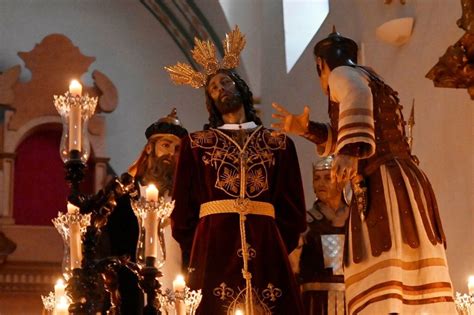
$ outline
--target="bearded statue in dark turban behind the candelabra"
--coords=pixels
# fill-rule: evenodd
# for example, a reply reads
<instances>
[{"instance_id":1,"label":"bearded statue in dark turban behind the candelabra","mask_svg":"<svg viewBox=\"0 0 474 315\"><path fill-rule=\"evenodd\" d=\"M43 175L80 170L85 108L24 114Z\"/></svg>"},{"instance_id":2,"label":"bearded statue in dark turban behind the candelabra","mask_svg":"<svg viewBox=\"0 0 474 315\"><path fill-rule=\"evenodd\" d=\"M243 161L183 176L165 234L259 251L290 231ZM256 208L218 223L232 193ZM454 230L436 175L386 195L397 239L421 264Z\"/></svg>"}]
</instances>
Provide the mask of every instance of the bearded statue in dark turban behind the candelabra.
<instances>
[{"instance_id":1,"label":"bearded statue in dark turban behind the candelabra","mask_svg":"<svg viewBox=\"0 0 474 315\"><path fill-rule=\"evenodd\" d=\"M165 198L171 196L181 138L187 134L187 130L177 117L176 109L146 129L147 143L138 159L128 169L142 196L145 195L144 189L149 184L154 184L159 189L160 196ZM130 204L131 198L133 197L125 195L117 199L117 206L109 216L102 233L101 246L105 248L104 256L128 256L130 261L136 262L139 227ZM166 239L166 242L162 243L162 250L168 254L163 274L176 275L181 270L181 254L178 245L171 237L169 224L164 229L164 235L160 237L162 240ZM166 276L160 279L165 288L171 286L171 279L167 279ZM121 267L118 271L118 282L121 314L142 314L143 294L136 275L126 267Z\"/></svg>"}]
</instances>

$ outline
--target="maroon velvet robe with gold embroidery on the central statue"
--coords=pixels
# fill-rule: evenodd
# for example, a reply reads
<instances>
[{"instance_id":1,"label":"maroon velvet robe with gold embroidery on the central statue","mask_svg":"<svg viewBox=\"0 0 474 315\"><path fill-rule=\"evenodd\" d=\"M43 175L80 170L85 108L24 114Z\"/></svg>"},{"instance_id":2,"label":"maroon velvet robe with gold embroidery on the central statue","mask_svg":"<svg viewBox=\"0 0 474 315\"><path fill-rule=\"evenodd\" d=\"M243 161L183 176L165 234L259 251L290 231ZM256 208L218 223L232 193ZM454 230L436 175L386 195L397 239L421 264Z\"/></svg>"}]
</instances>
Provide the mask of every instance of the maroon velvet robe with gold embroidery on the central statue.
<instances>
[{"instance_id":1,"label":"maroon velvet robe with gold embroidery on the central statue","mask_svg":"<svg viewBox=\"0 0 474 315\"><path fill-rule=\"evenodd\" d=\"M239 214L199 219L199 210L209 201L239 197L240 158L245 156L246 198L271 203L275 208L275 218L249 214L245 221L253 295L260 304L255 314L303 314L288 262L288 253L306 227L294 144L284 135L272 136L268 129L258 127L247 131L242 155L232 139L239 132L210 129L183 140L171 219L183 263L189 262L185 266L187 285L202 289L198 314L226 314L236 307L244 310Z\"/></svg>"}]
</instances>

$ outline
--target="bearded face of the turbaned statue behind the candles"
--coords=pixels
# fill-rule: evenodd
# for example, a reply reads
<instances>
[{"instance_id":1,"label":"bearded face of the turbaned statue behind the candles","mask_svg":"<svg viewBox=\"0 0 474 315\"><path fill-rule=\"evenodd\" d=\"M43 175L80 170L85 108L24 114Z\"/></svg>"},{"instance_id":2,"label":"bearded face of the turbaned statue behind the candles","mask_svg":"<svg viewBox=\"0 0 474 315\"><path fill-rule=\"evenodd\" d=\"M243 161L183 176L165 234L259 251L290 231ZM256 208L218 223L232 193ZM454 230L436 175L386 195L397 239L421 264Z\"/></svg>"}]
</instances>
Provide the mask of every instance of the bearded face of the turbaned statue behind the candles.
<instances>
[{"instance_id":1,"label":"bearded face of the turbaned statue behind the candles","mask_svg":"<svg viewBox=\"0 0 474 315\"><path fill-rule=\"evenodd\" d=\"M156 135L145 147L147 159L139 171L142 184L154 183L160 192L171 193L181 140L172 134Z\"/></svg>"}]
</instances>

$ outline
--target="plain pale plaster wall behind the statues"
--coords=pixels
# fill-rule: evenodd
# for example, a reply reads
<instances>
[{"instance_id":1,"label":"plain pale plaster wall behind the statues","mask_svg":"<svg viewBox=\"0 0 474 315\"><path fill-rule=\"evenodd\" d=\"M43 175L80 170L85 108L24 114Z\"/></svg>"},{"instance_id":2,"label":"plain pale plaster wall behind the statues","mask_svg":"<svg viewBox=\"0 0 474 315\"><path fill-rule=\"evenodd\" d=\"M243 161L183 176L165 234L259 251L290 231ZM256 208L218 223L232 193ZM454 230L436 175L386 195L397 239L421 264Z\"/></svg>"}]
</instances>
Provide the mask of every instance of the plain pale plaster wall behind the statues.
<instances>
[{"instance_id":1,"label":"plain pale plaster wall behind the statues","mask_svg":"<svg viewBox=\"0 0 474 315\"><path fill-rule=\"evenodd\" d=\"M196 2L204 13L222 12L209 7L217 5L215 0ZM253 5L261 10L258 21L255 12L249 13L249 20L245 14L239 16L242 23L257 23L255 29L262 32L260 42L248 42L247 49L253 53L246 56L257 58L261 66L245 66L247 77L261 78L257 88L261 90L266 125L271 122L272 101L294 112L308 104L314 120L327 121L326 98L318 86L312 47L330 33L333 24L344 35L366 44L366 62L400 92L407 117L411 101L416 99L414 153L438 197L455 289L467 291L467 276L474 274L474 103L466 90L434 88L424 78L448 45L462 35L455 24L461 15L460 1L407 0L402 6L398 1L384 5L382 0L332 0L322 29L289 74L285 70L281 2L242 2L246 10L252 10ZM375 39L378 25L405 15L415 17L413 37L406 45L397 48ZM220 21L218 25L225 27L215 29L219 36L228 30L222 18L211 16L209 20ZM95 56L97 61L90 70L102 71L118 88L119 106L107 115L107 151L118 173L142 149L145 128L167 114L171 106L178 108L189 130L201 128L207 120L203 91L172 85L162 70L165 65L185 61L185 57L138 1L0 0L0 70L21 63L16 52L30 51L50 33L65 34L85 55ZM314 148L304 139L295 142L309 205L313 200L309 174Z\"/></svg>"}]
</instances>

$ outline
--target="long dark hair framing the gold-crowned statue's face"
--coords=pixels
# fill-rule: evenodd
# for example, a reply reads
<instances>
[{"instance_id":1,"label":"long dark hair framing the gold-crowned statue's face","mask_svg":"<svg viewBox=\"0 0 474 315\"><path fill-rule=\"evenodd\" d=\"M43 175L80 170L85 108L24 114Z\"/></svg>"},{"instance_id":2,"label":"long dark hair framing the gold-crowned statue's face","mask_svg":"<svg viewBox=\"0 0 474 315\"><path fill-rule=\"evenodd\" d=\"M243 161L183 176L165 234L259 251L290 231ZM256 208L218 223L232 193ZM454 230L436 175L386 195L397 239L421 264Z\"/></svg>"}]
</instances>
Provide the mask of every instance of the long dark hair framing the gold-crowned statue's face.
<instances>
[{"instance_id":1,"label":"long dark hair framing the gold-crowned statue's face","mask_svg":"<svg viewBox=\"0 0 474 315\"><path fill-rule=\"evenodd\" d=\"M215 74L217 73L225 73L232 79L232 81L235 82L235 87L237 88L237 91L239 91L240 97L242 98L242 104L244 105L246 120L253 121L257 125L261 125L262 121L260 120L260 118L258 118L257 112L253 107L252 92L250 91L250 88L248 87L247 83L245 83L245 81L242 80L242 78L234 70L220 69ZM205 85L206 107L207 111L209 112L209 123L204 125L204 130L207 130L209 128L217 128L224 124L224 121L222 120L222 115L217 110L217 107L214 104L214 100L211 98L207 91L207 86L212 77L213 76L209 76L207 78Z\"/></svg>"}]
</instances>

